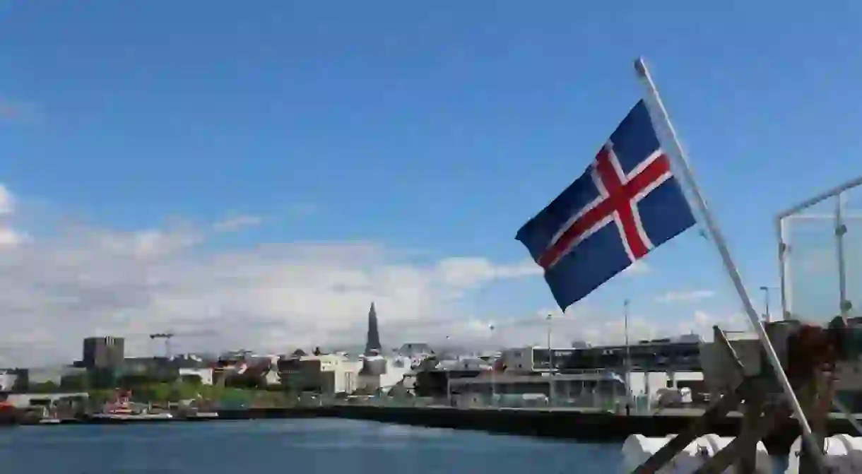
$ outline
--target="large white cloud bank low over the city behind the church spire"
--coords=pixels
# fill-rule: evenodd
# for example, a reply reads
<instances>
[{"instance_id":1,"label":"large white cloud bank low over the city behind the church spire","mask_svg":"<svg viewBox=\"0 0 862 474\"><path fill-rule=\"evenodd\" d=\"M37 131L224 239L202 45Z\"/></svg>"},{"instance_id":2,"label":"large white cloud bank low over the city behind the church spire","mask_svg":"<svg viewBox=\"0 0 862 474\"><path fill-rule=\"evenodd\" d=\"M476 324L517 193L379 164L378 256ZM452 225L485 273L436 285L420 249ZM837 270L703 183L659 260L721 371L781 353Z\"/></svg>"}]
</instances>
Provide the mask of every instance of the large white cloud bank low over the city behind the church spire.
<instances>
[{"instance_id":1,"label":"large white cloud bank low over the city behind the church spire","mask_svg":"<svg viewBox=\"0 0 862 474\"><path fill-rule=\"evenodd\" d=\"M536 272L480 257L415 265L372 242L220 251L209 240L216 228L77 227L26 240L0 231L0 244L16 243L0 252L0 365L79 358L80 341L100 334L125 336L129 352L160 352L148 334L168 330L214 330L178 335L178 351L361 344L372 301L385 344L433 340L470 321L455 319L465 290Z\"/></svg>"}]
</instances>

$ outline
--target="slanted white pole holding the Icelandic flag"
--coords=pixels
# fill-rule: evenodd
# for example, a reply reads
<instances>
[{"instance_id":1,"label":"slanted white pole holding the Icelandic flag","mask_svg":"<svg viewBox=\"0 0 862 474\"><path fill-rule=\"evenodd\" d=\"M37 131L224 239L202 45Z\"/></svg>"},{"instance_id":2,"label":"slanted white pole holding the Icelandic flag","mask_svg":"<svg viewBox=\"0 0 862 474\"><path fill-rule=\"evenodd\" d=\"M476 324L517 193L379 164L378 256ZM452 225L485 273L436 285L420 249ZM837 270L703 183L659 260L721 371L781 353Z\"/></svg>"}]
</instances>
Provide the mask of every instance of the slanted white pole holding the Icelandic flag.
<instances>
[{"instance_id":1,"label":"slanted white pole holding the Icelandic flag","mask_svg":"<svg viewBox=\"0 0 862 474\"><path fill-rule=\"evenodd\" d=\"M766 352L766 357L769 358L772 369L775 371L776 377L778 377L778 382L781 383L784 388L784 394L787 396L790 401L790 405L793 407L796 419L799 421L800 427L802 427L803 437L807 444L812 448L810 451L815 452L818 464L823 465L822 447L818 446L815 435L811 431L809 421L803 412L802 405L799 404L799 399L796 398L796 393L790 385L790 380L788 380L787 374L784 373L784 369L781 366L781 360L778 359L778 354L775 352L775 347L772 346L772 343L766 334L766 329L763 326L762 321L760 321L757 312L754 310L751 298L748 296L746 287L742 283L740 271L734 264L734 259L730 256L727 241L724 240L724 236L721 234L718 224L709 212L706 200L703 198L700 188L697 187L694 172L691 171L688 157L686 156L682 145L679 143L677 131L671 124L671 119L667 114L667 109L665 109L665 103L661 101L659 90L656 89L653 78L650 76L647 64L644 62L643 58L638 58L634 62L634 70L637 72L638 78L640 78L647 87L647 93L653 100L653 105L655 106L653 112L659 115L658 118L664 123L668 134L670 134L671 145L674 148L673 152L677 155L680 171L683 173L685 180L689 184L689 189L694 195L695 204L698 210L700 210L701 215L703 215L703 221L706 224L707 230L715 243L715 247L718 249L718 253L721 255L721 263L724 265L724 269L728 271L728 276L734 284L734 289L740 296L740 300L742 301L743 308L746 310L748 319L751 320L754 330L757 331L760 343L763 345L764 351ZM649 104L647 104L647 107L649 107Z\"/></svg>"}]
</instances>

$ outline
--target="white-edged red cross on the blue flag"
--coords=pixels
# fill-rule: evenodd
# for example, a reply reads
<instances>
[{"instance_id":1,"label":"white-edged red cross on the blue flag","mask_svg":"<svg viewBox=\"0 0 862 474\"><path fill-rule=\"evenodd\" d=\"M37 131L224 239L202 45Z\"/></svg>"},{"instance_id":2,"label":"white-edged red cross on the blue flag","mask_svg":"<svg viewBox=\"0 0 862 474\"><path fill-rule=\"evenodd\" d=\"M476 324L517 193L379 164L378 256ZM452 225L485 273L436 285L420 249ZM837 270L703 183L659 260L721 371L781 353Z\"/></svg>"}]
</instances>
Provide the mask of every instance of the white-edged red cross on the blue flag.
<instances>
[{"instance_id":1,"label":"white-edged red cross on the blue flag","mask_svg":"<svg viewBox=\"0 0 862 474\"><path fill-rule=\"evenodd\" d=\"M640 223L638 202L671 178L671 166L664 153L656 150L626 176L622 172L611 144L602 147L590 173L599 190L599 196L572 219L552 240L539 265L548 269L569 253L574 246L597 230L615 221L620 229L622 244L631 261L640 259L653 248Z\"/></svg>"}]
</instances>

